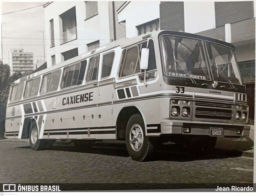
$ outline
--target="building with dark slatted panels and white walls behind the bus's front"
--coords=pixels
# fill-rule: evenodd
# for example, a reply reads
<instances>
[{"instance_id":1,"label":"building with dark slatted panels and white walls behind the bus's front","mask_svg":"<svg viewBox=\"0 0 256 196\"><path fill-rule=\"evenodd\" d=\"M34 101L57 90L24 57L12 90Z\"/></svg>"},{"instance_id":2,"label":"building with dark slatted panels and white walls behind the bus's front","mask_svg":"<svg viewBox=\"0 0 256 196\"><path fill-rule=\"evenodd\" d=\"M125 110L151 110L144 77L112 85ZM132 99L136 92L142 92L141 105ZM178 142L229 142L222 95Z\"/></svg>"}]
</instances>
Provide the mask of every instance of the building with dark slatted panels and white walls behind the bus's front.
<instances>
[{"instance_id":1,"label":"building with dark slatted panels and white walls behind the bus's front","mask_svg":"<svg viewBox=\"0 0 256 196\"><path fill-rule=\"evenodd\" d=\"M254 2L126 2L118 10L126 36L155 30L200 34L236 46L246 85L249 118L254 119L255 13Z\"/></svg>"}]
</instances>

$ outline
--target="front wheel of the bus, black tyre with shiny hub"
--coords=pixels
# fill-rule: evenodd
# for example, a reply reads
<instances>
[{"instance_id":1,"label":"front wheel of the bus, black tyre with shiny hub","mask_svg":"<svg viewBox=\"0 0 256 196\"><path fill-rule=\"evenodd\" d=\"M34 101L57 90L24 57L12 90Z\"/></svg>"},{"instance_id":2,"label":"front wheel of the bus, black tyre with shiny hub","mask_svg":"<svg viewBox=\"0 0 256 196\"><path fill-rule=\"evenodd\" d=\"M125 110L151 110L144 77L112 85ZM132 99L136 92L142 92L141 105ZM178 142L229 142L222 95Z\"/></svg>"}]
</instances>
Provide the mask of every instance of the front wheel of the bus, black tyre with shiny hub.
<instances>
[{"instance_id":1,"label":"front wheel of the bus, black tyre with shiny hub","mask_svg":"<svg viewBox=\"0 0 256 196\"><path fill-rule=\"evenodd\" d=\"M126 127L126 148L132 160L147 161L151 158L154 145L145 134L144 120L141 115L132 115Z\"/></svg>"}]
</instances>

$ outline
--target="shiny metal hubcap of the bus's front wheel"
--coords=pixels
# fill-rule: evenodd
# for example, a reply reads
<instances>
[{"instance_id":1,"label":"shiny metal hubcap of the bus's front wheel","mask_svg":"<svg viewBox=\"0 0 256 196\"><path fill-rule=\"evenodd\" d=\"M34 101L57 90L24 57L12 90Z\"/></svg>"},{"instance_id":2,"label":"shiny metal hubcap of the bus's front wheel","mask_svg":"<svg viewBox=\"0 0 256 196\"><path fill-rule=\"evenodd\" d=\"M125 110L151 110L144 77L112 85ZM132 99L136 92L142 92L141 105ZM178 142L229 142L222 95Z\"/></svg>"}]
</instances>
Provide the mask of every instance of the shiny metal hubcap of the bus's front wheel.
<instances>
[{"instance_id":1,"label":"shiny metal hubcap of the bus's front wheel","mask_svg":"<svg viewBox=\"0 0 256 196\"><path fill-rule=\"evenodd\" d=\"M130 145L133 150L139 151L143 145L142 128L138 124L132 125L130 130Z\"/></svg>"}]
</instances>

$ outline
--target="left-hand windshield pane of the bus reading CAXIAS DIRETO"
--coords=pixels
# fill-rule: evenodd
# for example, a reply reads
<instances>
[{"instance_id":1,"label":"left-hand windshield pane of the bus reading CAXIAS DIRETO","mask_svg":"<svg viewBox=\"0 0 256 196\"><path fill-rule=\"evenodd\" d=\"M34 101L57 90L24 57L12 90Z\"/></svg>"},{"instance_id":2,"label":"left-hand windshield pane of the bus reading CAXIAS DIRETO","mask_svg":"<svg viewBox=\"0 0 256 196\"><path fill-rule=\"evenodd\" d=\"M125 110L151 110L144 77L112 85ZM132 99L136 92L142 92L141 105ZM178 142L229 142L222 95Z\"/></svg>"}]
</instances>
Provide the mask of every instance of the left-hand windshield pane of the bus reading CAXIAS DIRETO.
<instances>
[{"instance_id":1,"label":"left-hand windshield pane of the bus reading CAXIAS DIRETO","mask_svg":"<svg viewBox=\"0 0 256 196\"><path fill-rule=\"evenodd\" d=\"M162 36L161 43L166 75L209 80L202 40Z\"/></svg>"}]
</instances>

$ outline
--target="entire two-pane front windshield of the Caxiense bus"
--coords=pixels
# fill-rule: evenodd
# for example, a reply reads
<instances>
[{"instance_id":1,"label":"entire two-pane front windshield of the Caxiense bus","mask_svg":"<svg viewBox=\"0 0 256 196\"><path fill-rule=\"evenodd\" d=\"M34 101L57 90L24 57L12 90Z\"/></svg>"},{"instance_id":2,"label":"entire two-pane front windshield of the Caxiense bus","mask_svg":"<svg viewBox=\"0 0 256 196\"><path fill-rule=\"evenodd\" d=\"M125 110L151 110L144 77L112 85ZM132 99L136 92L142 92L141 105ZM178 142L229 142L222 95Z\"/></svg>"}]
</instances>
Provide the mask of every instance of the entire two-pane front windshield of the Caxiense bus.
<instances>
[{"instance_id":1,"label":"entire two-pane front windshield of the Caxiense bus","mask_svg":"<svg viewBox=\"0 0 256 196\"><path fill-rule=\"evenodd\" d=\"M180 36L161 37L164 73L168 76L242 84L234 51L217 43ZM206 55L205 55L206 54ZM210 61L208 69L206 59Z\"/></svg>"}]
</instances>

